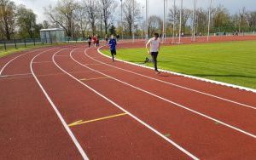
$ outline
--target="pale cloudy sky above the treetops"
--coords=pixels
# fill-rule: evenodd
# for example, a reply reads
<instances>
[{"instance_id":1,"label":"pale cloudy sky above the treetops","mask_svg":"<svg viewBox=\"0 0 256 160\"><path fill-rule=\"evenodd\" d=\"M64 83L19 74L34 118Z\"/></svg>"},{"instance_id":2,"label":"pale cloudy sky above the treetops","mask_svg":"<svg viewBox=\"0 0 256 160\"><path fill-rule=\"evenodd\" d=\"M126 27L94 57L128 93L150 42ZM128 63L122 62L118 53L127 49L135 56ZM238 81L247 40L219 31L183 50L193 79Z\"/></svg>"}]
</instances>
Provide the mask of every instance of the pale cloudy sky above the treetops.
<instances>
[{"instance_id":1,"label":"pale cloudy sky above the treetops","mask_svg":"<svg viewBox=\"0 0 256 160\"><path fill-rule=\"evenodd\" d=\"M38 15L38 22L46 20L44 16L44 7L49 5L55 5L58 0L14 0L16 4L24 4L28 9L32 9L35 14ZM148 0L149 1L149 14L157 14L162 16L164 0ZM173 0L167 0L168 6L172 6ZM197 0L198 7L207 9L210 0ZM145 0L137 0L140 3L140 7L143 10L145 6ZM179 5L180 0L176 0ZM183 6L186 8L192 8L193 0L183 0ZM248 10L256 10L256 0L212 0L212 5L217 6L218 4L224 5L225 8L230 10L230 13L236 13L242 7L246 7Z\"/></svg>"}]
</instances>

